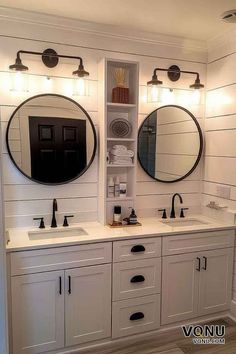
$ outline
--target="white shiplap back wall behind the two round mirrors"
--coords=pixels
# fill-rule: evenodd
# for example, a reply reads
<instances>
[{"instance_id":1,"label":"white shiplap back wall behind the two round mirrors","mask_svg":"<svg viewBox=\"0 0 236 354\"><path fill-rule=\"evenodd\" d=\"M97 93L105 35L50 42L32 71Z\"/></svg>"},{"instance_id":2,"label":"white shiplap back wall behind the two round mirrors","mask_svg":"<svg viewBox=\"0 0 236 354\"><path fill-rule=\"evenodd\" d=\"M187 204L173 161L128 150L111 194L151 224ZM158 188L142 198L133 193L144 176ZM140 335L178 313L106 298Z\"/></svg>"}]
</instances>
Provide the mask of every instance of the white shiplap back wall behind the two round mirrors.
<instances>
[{"instance_id":1,"label":"white shiplap back wall behind the two round mirrors","mask_svg":"<svg viewBox=\"0 0 236 354\"><path fill-rule=\"evenodd\" d=\"M5 12L4 12L5 11ZM98 157L96 156L90 169L80 179L64 185L48 187L31 182L21 175L9 159L5 146L5 130L7 122L16 106L26 98L43 92L61 93L70 96L71 72L75 65L71 61L61 61L54 69L47 69L38 57L24 57L23 62L29 66L30 91L25 94L13 94L7 89L9 64L15 60L19 49L43 51L52 47L58 53L81 55L86 70L90 72L90 86L92 95L88 98L73 97L91 115L98 126L98 63L104 57L134 60L140 63L140 104L139 123L154 108L145 101L145 85L150 79L153 68L169 67L177 64L183 70L200 72L201 79L206 79L205 50L199 48L199 43L187 43L177 39L134 40L128 36L105 35L98 31L81 30L81 24L72 20L55 19L49 16L35 18L34 15L14 12L15 19L10 19L12 13L8 10L0 11L0 45L4 51L0 53L0 107L3 144L3 174L4 174L4 200L6 226L32 225L32 218L45 216L46 223L51 217L52 199L57 198L59 204L59 222L65 213L76 215L74 221L96 220L98 202ZM4 16L1 18L1 14ZM27 20L30 16L30 21ZM16 19L18 17L18 19ZM35 23L33 23L35 21ZM31 22L31 23L30 23ZM40 22L40 23L39 23ZM91 26L90 26L91 27ZM101 29L100 29L101 30ZM44 77L39 75L55 76L52 87L45 89ZM57 77L57 78L56 78ZM160 79L169 85L166 75ZM186 88L192 83L193 77L185 75L175 85ZM176 87L175 86L175 87ZM202 124L204 105L188 107ZM102 139L103 137L99 137ZM171 195L175 192L183 194L186 206L198 207L201 192L201 164L196 171L185 181L176 184L162 184L150 179L140 167L137 174L137 200L138 215L156 215L156 209L170 205Z\"/></svg>"}]
</instances>

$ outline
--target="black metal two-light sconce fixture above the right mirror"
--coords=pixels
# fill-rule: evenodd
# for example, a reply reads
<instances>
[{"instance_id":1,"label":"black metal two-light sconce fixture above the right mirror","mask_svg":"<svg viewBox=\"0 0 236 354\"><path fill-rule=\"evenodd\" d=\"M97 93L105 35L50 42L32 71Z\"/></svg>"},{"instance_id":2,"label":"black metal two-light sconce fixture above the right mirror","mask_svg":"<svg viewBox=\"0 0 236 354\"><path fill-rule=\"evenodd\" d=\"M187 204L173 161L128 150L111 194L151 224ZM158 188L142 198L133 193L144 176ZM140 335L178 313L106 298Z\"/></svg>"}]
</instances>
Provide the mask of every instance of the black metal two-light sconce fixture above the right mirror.
<instances>
[{"instance_id":1,"label":"black metal two-light sconce fixture above the right mirror","mask_svg":"<svg viewBox=\"0 0 236 354\"><path fill-rule=\"evenodd\" d=\"M200 82L200 76L199 73L196 71L186 71L186 70L180 70L180 68L177 65L171 65L168 69L163 69L163 68L155 68L153 70L153 75L152 75L152 80L147 82L147 85L150 86L156 86L156 85L162 85L163 82L158 80L157 78L157 71L166 71L168 78L171 81L178 81L180 78L181 73L183 74L191 74L191 75L196 75L195 82L190 85L189 87L195 90L199 90L204 87L203 84Z\"/></svg>"}]
</instances>

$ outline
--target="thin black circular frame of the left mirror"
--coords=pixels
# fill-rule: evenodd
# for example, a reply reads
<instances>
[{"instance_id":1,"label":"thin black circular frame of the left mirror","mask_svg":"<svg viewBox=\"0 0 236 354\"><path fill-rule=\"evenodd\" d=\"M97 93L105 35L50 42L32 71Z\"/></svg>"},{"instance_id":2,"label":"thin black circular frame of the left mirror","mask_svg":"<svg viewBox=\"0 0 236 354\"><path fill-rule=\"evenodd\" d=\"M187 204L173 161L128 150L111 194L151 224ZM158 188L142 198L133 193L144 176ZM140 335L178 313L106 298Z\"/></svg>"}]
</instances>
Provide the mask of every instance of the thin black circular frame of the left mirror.
<instances>
[{"instance_id":1,"label":"thin black circular frame of the left mirror","mask_svg":"<svg viewBox=\"0 0 236 354\"><path fill-rule=\"evenodd\" d=\"M12 156L12 153L10 151L10 146L9 146L9 142L8 142L8 136L9 136L9 130L10 130L10 125L11 125L11 121L13 120L14 118L14 115L16 114L16 112L23 106L25 105L27 102L31 101L32 99L34 98L38 98L38 97L43 97L43 96L55 96L55 97L60 97L60 98L64 98L70 102L72 102L73 104L75 104L79 109L81 109L83 111L83 113L86 115L86 117L88 118L88 121L89 123L91 124L91 128L92 128L92 131L93 131L93 137L94 137L94 148L93 148L93 153L92 153L92 156L91 156L91 159L89 161L89 164L86 166L86 168L84 168L78 175L76 175L76 177L70 179L70 180L67 180L65 182L58 182L58 183L45 183L45 182L40 182L30 176L28 176L26 173L24 173L20 168L19 166L16 164L13 156ZM31 181L33 182L36 182L36 183L39 183L39 184L44 184L44 185L47 185L47 186L58 186L58 185L63 185L63 184L67 184L67 183L70 183L72 181L75 181L77 178L79 178L80 176L82 176L88 169L89 167L91 166L91 164L93 163L93 160L95 158L95 155L96 155L96 151L97 151L97 134L96 134L96 129L95 129L95 126L94 126L94 123L91 119L91 117L89 116L89 114L87 113L87 111L79 104L77 103L76 101L74 101L72 98L70 97L67 97L67 96L64 96L64 95L60 95L60 94L56 94L56 93L43 93L43 94L40 94L40 95L36 95L36 96L32 96L30 98L27 98L27 100L23 101L15 110L14 112L12 113L10 119L9 119L9 122L7 124L7 130L6 130L6 145L7 145L7 152L10 156L10 159L12 161L12 163L15 165L15 167L17 168L18 171L20 171L26 178L30 179Z\"/></svg>"}]
</instances>

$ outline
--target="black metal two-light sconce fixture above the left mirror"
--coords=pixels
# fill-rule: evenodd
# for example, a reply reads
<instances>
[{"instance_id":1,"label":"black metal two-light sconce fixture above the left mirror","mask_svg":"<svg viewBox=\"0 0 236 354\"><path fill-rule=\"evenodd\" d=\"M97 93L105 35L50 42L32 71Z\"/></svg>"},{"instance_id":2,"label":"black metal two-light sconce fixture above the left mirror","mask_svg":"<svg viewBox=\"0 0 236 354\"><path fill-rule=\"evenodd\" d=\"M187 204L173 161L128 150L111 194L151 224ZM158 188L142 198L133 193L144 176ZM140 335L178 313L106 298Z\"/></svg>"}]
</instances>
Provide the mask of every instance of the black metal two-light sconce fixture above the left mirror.
<instances>
[{"instance_id":1,"label":"black metal two-light sconce fixture above the left mirror","mask_svg":"<svg viewBox=\"0 0 236 354\"><path fill-rule=\"evenodd\" d=\"M42 62L48 68L54 68L57 66L59 62L59 58L67 58L67 59L76 59L79 60L78 69L72 72L72 75L78 76L80 78L89 76L89 72L84 69L83 59L79 56L72 56L72 55L62 55L57 54L57 52L53 49L46 49L43 52L32 52L27 50L19 50L16 54L15 64L9 66L10 70L14 71L28 71L29 68L22 64L22 60L20 55L22 54L30 54L30 55L39 55L42 58Z\"/></svg>"}]
</instances>

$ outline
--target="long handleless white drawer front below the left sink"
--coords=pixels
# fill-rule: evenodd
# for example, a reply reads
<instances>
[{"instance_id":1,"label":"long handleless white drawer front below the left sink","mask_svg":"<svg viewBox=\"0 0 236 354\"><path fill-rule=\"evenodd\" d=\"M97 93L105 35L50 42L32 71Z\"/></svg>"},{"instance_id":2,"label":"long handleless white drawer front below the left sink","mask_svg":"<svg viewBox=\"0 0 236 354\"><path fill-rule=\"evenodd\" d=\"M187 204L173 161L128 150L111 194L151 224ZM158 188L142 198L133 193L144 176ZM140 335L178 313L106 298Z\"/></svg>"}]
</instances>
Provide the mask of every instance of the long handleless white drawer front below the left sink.
<instances>
[{"instance_id":1,"label":"long handleless white drawer front below the left sink","mask_svg":"<svg viewBox=\"0 0 236 354\"><path fill-rule=\"evenodd\" d=\"M111 242L11 253L11 275L109 263Z\"/></svg>"}]
</instances>

